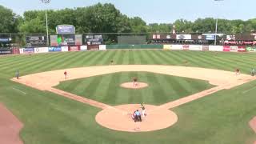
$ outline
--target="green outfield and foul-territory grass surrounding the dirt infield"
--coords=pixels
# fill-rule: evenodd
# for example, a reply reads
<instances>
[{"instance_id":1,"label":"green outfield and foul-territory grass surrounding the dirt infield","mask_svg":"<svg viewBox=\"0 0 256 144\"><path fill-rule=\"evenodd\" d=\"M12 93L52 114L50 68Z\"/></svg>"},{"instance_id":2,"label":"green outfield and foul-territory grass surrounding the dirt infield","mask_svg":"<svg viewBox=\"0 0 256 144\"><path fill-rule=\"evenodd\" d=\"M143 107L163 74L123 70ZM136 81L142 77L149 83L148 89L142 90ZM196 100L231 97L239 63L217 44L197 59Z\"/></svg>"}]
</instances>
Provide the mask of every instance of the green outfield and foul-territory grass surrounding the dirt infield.
<instances>
[{"instance_id":1,"label":"green outfield and foul-territory grass surrounding the dirt infield","mask_svg":"<svg viewBox=\"0 0 256 144\"><path fill-rule=\"evenodd\" d=\"M256 54L165 50L110 50L0 57L0 102L25 124L26 144L81 143L252 143L256 134L248 126L256 115L256 82L221 90L209 97L178 106L178 123L165 130L126 133L108 130L94 121L99 109L50 92L11 82L15 70L22 75L81 66L162 64L198 66L219 70L240 68L249 74ZM17 90L24 91L22 94ZM246 91L247 90L247 91Z\"/></svg>"}]
</instances>

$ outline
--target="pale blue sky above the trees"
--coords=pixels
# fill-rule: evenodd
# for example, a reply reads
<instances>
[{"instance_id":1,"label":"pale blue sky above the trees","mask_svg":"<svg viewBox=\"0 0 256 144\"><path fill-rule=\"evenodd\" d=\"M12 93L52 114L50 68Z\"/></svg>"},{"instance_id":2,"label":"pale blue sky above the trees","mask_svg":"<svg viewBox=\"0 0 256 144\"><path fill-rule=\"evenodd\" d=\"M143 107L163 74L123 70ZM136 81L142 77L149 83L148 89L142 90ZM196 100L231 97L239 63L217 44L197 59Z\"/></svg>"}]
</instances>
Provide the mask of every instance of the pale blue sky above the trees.
<instances>
[{"instance_id":1,"label":"pale blue sky above the trees","mask_svg":"<svg viewBox=\"0 0 256 144\"><path fill-rule=\"evenodd\" d=\"M60 10L92 6L98 2L112 3L122 14L138 16L147 23L171 23L183 18L226 18L247 20L256 18L256 0L51 0L47 8ZM41 0L0 0L14 13L22 15L26 10L44 10Z\"/></svg>"}]
</instances>

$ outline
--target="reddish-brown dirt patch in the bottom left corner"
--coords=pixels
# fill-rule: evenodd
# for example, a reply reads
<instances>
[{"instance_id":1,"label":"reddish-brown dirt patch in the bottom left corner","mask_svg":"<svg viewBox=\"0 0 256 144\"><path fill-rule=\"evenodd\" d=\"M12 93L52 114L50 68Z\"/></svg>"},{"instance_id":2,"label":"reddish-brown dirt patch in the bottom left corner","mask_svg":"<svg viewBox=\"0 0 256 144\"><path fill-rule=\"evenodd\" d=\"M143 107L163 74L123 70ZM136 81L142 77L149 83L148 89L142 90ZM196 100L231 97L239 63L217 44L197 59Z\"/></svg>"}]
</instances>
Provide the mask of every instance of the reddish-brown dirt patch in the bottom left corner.
<instances>
[{"instance_id":1,"label":"reddish-brown dirt patch in the bottom left corner","mask_svg":"<svg viewBox=\"0 0 256 144\"><path fill-rule=\"evenodd\" d=\"M19 131L22 130L22 122L7 110L0 103L0 143L2 144L22 144L19 138Z\"/></svg>"}]
</instances>

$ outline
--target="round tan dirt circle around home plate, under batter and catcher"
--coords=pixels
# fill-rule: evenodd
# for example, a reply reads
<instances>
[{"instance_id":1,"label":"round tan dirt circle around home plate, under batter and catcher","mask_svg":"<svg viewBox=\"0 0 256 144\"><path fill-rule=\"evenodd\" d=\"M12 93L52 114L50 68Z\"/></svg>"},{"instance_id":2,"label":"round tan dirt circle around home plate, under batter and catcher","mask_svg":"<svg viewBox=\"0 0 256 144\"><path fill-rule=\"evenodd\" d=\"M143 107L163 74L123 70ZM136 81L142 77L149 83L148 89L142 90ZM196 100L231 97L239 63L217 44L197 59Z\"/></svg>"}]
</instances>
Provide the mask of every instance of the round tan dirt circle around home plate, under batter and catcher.
<instances>
[{"instance_id":1,"label":"round tan dirt circle around home plate, under batter and catcher","mask_svg":"<svg viewBox=\"0 0 256 144\"><path fill-rule=\"evenodd\" d=\"M174 125L178 121L177 115L158 106L146 105L146 117L142 117L142 122L134 122L131 114L134 110L140 110L140 105L122 105L110 107L100 111L96 115L96 122L101 126L111 130L127 132L146 132L161 130Z\"/></svg>"}]
</instances>

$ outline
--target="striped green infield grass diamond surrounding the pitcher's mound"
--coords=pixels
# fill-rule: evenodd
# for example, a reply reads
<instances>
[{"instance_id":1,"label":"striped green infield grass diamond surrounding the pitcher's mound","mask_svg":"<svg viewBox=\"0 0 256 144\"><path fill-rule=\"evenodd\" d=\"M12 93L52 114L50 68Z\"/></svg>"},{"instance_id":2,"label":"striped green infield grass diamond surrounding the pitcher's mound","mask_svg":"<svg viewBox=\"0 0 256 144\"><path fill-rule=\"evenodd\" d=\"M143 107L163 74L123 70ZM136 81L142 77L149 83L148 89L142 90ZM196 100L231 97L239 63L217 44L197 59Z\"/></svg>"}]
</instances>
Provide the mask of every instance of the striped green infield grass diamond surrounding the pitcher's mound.
<instances>
[{"instance_id":1,"label":"striped green infield grass diamond surrounding the pitcher's mound","mask_svg":"<svg viewBox=\"0 0 256 144\"><path fill-rule=\"evenodd\" d=\"M120 84L131 82L134 77L138 78L139 82L146 82L149 86L140 90L120 87ZM61 82L56 87L85 98L117 106L142 102L161 105L213 86L209 82L192 78L148 72L122 72Z\"/></svg>"}]
</instances>

